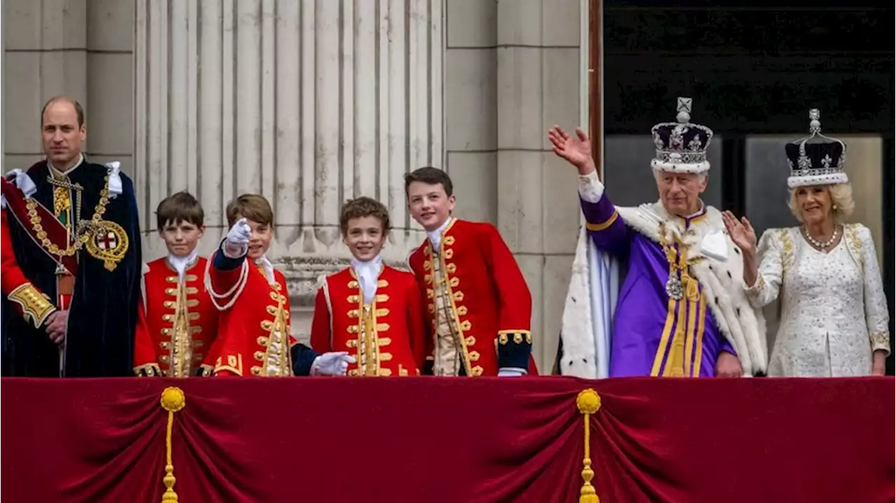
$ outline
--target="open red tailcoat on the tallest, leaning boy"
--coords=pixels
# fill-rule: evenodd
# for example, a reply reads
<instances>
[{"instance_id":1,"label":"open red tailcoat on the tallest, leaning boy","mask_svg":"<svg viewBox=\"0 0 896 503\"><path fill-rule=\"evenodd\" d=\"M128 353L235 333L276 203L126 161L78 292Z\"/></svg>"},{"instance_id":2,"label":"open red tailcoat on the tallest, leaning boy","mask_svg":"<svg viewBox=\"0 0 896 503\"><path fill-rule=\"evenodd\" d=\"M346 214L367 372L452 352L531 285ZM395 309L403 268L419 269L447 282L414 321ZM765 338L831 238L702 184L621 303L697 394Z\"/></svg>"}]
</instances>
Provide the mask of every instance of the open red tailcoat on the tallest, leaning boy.
<instances>
[{"instance_id":1,"label":"open red tailcoat on the tallest, leaning boy","mask_svg":"<svg viewBox=\"0 0 896 503\"><path fill-rule=\"evenodd\" d=\"M531 359L532 296L513 253L495 226L453 219L443 233L439 259L461 334L468 376L494 376L501 367L536 373ZM428 239L409 257L426 302L426 320L435 334L433 249ZM427 337L432 358L434 337Z\"/></svg>"}]
</instances>

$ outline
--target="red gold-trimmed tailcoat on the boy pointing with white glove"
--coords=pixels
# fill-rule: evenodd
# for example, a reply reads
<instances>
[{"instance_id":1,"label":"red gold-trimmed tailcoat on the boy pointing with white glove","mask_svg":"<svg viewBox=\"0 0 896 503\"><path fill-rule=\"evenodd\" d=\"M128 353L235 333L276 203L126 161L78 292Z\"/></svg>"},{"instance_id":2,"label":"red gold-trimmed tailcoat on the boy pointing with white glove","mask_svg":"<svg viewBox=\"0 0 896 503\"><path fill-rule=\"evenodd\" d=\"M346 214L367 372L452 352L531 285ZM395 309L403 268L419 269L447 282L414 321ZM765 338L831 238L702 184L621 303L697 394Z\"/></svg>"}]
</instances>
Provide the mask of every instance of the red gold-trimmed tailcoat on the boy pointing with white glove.
<instances>
[{"instance_id":1,"label":"red gold-trimmed tailcoat on the boy pointing with white glove","mask_svg":"<svg viewBox=\"0 0 896 503\"><path fill-rule=\"evenodd\" d=\"M210 260L213 262L214 256ZM232 304L221 311L218 338L211 349L212 373L215 376L291 376L289 349L296 344L296 339L289 335L286 277L274 269L274 282L268 283L264 269L250 265L248 259L242 260L237 269L211 267L208 272L214 293L233 291L216 300L221 307Z\"/></svg>"}]
</instances>

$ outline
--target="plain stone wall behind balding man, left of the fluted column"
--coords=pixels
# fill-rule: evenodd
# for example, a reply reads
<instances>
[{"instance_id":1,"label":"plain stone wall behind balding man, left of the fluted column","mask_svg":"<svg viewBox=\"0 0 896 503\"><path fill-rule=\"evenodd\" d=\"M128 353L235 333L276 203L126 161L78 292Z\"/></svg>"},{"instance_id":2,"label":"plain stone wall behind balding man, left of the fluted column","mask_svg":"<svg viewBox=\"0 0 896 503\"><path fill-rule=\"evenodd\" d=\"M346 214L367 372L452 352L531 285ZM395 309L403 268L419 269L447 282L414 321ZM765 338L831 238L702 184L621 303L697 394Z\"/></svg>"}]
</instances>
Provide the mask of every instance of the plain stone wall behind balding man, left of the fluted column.
<instances>
[{"instance_id":1,"label":"plain stone wall behind balding man, left of the fluted column","mask_svg":"<svg viewBox=\"0 0 896 503\"><path fill-rule=\"evenodd\" d=\"M133 173L134 3L116 0L2 0L4 169L43 157L40 108L48 98L79 100L87 118L84 152L121 161Z\"/></svg>"}]
</instances>

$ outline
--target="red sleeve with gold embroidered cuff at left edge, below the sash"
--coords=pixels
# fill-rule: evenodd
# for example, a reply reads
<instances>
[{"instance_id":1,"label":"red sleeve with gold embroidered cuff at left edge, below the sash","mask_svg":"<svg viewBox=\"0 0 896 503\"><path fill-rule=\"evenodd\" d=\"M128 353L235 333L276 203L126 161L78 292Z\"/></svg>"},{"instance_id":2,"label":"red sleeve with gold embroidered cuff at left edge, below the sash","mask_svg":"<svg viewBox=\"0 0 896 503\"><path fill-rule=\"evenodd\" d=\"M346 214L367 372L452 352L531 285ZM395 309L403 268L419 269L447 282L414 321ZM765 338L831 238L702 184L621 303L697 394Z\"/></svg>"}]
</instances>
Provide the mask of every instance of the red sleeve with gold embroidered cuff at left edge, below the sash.
<instances>
[{"instance_id":1,"label":"red sleeve with gold embroidered cuff at left edge, below the sash","mask_svg":"<svg viewBox=\"0 0 896 503\"><path fill-rule=\"evenodd\" d=\"M15 303L20 315L30 320L34 328L40 328L49 315L56 311L56 305L37 286L32 285L22 269L19 269L6 218L6 210L0 209L0 290Z\"/></svg>"}]
</instances>

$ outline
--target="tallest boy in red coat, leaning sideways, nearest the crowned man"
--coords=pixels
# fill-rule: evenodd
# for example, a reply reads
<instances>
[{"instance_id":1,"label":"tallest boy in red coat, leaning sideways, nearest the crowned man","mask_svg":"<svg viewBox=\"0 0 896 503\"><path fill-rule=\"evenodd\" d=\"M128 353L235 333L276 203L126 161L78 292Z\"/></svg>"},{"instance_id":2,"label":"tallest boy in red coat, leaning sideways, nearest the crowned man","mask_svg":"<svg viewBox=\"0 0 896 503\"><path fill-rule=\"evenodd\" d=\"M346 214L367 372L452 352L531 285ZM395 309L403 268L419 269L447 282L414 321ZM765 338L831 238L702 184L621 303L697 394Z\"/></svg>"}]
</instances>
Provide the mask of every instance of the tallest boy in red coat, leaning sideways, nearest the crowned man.
<instances>
[{"instance_id":1,"label":"tallest boy in red coat, leaning sideways, nearest the crowned man","mask_svg":"<svg viewBox=\"0 0 896 503\"><path fill-rule=\"evenodd\" d=\"M437 376L521 376L531 361L532 297L495 226L452 217L452 181L421 167L404 178L411 216L427 239L409 264L425 294Z\"/></svg>"}]
</instances>

